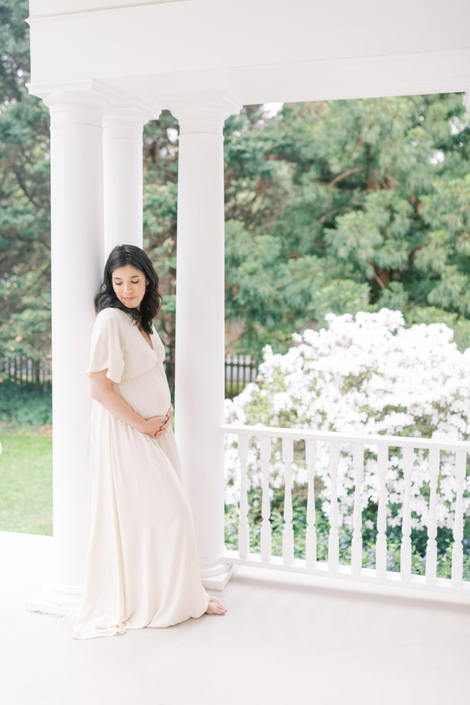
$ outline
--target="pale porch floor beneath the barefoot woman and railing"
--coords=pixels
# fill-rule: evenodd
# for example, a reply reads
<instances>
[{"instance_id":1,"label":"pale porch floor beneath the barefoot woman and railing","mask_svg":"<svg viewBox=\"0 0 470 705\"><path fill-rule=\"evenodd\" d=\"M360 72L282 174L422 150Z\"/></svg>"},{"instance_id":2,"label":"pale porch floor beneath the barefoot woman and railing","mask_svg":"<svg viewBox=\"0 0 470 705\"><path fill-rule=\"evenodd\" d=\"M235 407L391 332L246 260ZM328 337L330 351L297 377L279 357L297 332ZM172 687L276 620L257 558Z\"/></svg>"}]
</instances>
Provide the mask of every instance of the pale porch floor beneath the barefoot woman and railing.
<instances>
[{"instance_id":1,"label":"pale porch floor beneath the barefoot woman and railing","mask_svg":"<svg viewBox=\"0 0 470 705\"><path fill-rule=\"evenodd\" d=\"M437 705L469 701L470 608L239 568L223 617L76 641L25 610L52 539L0 532L6 705Z\"/></svg>"}]
</instances>

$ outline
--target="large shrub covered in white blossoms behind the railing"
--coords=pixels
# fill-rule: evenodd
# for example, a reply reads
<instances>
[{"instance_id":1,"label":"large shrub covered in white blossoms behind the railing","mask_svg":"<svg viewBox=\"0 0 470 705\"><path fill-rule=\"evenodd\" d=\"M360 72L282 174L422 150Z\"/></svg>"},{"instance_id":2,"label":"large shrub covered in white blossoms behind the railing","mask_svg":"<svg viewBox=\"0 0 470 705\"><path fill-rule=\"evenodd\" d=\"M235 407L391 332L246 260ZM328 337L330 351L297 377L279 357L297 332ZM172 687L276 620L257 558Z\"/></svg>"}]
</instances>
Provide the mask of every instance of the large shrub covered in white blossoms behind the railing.
<instances>
[{"instance_id":1,"label":"large shrub covered in white blossoms behind the railing","mask_svg":"<svg viewBox=\"0 0 470 705\"><path fill-rule=\"evenodd\" d=\"M444 324L419 324L406 329L401 312L381 309L326 316L328 328L292 336L295 346L285 355L264 348L256 384L225 402L227 423L292 427L342 434L423 436L446 441L470 439L470 348L464 353L452 342ZM319 500L328 515L330 475L328 444L317 443ZM307 482L302 443L296 444L293 480ZM412 527L428 519L428 453L414 451ZM467 458L469 460L469 458ZM235 436L226 436L226 501L237 503L239 470ZM404 497L402 453L390 448L386 484L388 526L401 524ZM454 520L454 453L441 453L437 518L439 527ZM249 489L261 485L256 441L250 443ZM280 444L271 456L271 486L284 484ZM338 469L340 518L352 526L354 474L352 448L341 444ZM364 453L362 508L378 503L376 446ZM464 516L470 508L470 477L464 485ZM370 522L369 522L370 523ZM369 526L372 529L372 525Z\"/></svg>"}]
</instances>

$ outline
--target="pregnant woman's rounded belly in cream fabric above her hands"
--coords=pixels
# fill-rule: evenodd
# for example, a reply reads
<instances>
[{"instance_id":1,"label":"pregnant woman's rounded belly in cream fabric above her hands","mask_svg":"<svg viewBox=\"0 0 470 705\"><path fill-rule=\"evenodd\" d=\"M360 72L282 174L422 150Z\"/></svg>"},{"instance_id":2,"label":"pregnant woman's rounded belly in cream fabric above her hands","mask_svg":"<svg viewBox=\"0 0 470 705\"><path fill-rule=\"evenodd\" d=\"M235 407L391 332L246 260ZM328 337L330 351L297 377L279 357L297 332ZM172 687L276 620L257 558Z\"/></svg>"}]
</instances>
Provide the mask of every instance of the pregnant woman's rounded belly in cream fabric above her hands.
<instances>
[{"instance_id":1,"label":"pregnant woman's rounded belly in cream fabric above her hands","mask_svg":"<svg viewBox=\"0 0 470 705\"><path fill-rule=\"evenodd\" d=\"M144 419L166 415L171 403L168 381L161 365L116 384L116 391Z\"/></svg>"}]
</instances>

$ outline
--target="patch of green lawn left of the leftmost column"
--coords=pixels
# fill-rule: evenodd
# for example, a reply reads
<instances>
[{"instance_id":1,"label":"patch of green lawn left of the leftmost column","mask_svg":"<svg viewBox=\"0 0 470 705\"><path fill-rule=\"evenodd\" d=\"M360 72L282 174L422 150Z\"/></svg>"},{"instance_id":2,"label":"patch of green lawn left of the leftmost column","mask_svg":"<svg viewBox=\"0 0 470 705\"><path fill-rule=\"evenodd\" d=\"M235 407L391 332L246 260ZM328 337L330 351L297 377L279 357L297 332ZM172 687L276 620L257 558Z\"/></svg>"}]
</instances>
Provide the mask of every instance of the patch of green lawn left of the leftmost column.
<instances>
[{"instance_id":1,"label":"patch of green lawn left of the leftmost column","mask_svg":"<svg viewBox=\"0 0 470 705\"><path fill-rule=\"evenodd\" d=\"M0 531L52 535L52 438L1 434Z\"/></svg>"}]
</instances>

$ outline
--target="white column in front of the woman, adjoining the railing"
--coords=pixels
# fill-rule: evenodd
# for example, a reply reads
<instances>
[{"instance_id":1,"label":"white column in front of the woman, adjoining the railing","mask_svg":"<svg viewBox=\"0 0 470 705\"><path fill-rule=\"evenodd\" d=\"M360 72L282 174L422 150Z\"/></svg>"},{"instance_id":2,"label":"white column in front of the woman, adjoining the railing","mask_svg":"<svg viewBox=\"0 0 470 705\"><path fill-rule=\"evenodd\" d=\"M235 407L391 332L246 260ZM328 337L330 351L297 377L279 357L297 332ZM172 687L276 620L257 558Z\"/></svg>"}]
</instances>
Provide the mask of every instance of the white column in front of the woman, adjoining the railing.
<instances>
[{"instance_id":1,"label":"white column in front of the woman, adjoining the railing","mask_svg":"<svg viewBox=\"0 0 470 705\"><path fill-rule=\"evenodd\" d=\"M176 264L175 428L204 584L230 577L224 549L223 94L171 101L180 122ZM211 580L208 580L209 578Z\"/></svg>"}]
</instances>

